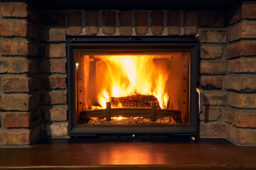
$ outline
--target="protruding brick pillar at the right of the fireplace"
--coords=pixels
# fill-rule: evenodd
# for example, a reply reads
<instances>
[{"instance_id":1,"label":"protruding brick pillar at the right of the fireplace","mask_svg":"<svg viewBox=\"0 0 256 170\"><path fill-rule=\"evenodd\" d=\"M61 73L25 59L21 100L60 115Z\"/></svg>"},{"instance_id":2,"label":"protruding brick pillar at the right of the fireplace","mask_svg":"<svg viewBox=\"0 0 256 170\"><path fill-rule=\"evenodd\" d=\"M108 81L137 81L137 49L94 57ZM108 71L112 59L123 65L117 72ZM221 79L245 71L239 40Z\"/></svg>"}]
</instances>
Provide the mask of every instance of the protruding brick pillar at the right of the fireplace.
<instances>
[{"instance_id":1,"label":"protruding brick pillar at the right of the fireplace","mask_svg":"<svg viewBox=\"0 0 256 170\"><path fill-rule=\"evenodd\" d=\"M228 21L228 106L223 120L228 139L240 145L255 145L256 3L244 3L233 13Z\"/></svg>"}]
</instances>

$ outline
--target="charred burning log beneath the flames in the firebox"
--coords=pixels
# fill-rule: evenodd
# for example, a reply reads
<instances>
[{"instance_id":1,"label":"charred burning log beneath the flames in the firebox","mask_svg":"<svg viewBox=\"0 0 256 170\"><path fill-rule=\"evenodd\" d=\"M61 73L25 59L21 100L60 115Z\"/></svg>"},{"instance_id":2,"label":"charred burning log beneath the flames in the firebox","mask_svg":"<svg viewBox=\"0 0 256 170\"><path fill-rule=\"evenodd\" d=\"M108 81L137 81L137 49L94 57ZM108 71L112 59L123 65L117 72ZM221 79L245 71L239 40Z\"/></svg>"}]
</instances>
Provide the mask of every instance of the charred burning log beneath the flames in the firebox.
<instances>
[{"instance_id":1,"label":"charred burning log beneath the flames in the firebox","mask_svg":"<svg viewBox=\"0 0 256 170\"><path fill-rule=\"evenodd\" d=\"M156 102L156 108L160 108L159 101L153 95L135 94L125 97L111 97L111 106L117 107L119 103L125 108L150 108L151 101Z\"/></svg>"}]
</instances>

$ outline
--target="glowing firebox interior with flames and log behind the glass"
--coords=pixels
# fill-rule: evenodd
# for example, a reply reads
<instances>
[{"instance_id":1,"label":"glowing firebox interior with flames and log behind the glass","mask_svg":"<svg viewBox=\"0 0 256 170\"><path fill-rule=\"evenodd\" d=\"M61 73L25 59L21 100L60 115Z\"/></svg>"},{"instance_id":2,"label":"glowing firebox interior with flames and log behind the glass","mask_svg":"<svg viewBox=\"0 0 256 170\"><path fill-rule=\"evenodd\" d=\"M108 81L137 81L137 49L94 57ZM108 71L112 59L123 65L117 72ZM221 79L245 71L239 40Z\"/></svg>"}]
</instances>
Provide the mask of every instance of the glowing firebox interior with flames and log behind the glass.
<instances>
[{"instance_id":1,"label":"glowing firebox interior with flames and log behind the glass","mask_svg":"<svg viewBox=\"0 0 256 170\"><path fill-rule=\"evenodd\" d=\"M190 60L190 51L76 50L77 124L188 125Z\"/></svg>"}]
</instances>

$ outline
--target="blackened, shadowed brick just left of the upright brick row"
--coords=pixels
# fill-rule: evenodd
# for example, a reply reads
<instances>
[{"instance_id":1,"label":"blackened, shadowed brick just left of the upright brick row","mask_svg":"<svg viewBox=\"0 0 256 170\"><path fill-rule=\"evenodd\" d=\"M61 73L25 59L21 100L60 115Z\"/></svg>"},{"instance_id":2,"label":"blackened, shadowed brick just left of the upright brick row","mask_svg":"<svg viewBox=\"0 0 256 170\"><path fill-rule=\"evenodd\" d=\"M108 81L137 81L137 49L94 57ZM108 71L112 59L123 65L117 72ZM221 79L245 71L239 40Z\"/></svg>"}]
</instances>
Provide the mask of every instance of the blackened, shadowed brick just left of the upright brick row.
<instances>
[{"instance_id":1,"label":"blackened, shadowed brick just left of the upright brick row","mask_svg":"<svg viewBox=\"0 0 256 170\"><path fill-rule=\"evenodd\" d=\"M64 11L44 11L44 26L66 26Z\"/></svg>"}]
</instances>

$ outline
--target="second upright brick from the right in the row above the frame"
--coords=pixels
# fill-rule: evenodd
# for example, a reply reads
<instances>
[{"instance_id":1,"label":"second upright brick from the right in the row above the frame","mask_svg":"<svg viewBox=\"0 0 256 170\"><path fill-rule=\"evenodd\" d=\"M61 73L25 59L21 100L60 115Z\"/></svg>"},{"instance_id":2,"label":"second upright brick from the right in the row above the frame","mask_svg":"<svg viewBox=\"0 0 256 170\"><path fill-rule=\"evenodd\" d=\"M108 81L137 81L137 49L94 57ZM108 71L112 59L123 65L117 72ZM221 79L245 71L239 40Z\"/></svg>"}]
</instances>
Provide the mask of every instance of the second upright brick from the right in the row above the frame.
<instances>
[{"instance_id":1,"label":"second upright brick from the right in the row above the frame","mask_svg":"<svg viewBox=\"0 0 256 170\"><path fill-rule=\"evenodd\" d=\"M167 15L167 34L180 35L181 34L181 12L171 11Z\"/></svg>"}]
</instances>

